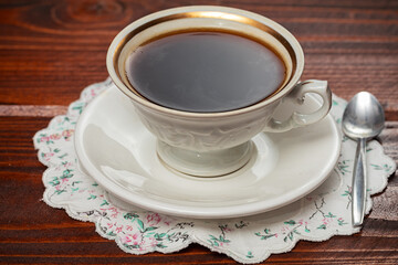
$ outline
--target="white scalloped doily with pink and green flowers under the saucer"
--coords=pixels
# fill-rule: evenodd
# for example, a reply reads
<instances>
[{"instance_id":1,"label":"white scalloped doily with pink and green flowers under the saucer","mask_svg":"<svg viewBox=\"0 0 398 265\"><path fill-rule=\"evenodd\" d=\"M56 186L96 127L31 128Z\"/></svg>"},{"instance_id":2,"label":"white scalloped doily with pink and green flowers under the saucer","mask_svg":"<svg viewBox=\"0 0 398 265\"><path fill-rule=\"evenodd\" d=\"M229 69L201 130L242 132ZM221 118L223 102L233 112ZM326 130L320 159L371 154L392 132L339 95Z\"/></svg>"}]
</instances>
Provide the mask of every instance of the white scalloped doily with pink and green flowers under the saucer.
<instances>
[{"instance_id":1,"label":"white scalloped doily with pink and green flowers under the saucer","mask_svg":"<svg viewBox=\"0 0 398 265\"><path fill-rule=\"evenodd\" d=\"M338 163L331 177L315 191L281 209L249 218L228 220L190 220L167 216L126 204L78 169L73 134L85 106L113 83L86 87L64 116L54 117L49 127L33 138L39 160L48 167L43 173L43 200L53 208L65 209L76 220L95 223L102 236L114 240L125 252L170 253L199 243L224 253L238 262L252 264L271 254L291 251L300 240L325 241L333 235L359 231L350 221L350 184L356 142L343 137ZM341 124L346 102L334 95L332 116ZM370 141L368 159L368 198L383 191L395 162L377 141Z\"/></svg>"}]
</instances>

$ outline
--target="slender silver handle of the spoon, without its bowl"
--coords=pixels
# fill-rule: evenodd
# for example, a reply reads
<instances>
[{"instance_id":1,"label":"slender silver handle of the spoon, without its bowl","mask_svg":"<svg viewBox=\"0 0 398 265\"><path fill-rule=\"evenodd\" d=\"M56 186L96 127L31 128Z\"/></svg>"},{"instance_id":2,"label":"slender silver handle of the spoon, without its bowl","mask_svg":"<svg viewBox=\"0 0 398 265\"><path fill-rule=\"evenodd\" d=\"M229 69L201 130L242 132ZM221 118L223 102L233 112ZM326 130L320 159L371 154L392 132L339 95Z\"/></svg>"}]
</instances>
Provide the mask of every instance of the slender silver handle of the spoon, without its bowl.
<instances>
[{"instance_id":1,"label":"slender silver handle of the spoon, without its bowl","mask_svg":"<svg viewBox=\"0 0 398 265\"><path fill-rule=\"evenodd\" d=\"M353 176L353 225L362 225L366 202L366 139L358 140Z\"/></svg>"}]
</instances>

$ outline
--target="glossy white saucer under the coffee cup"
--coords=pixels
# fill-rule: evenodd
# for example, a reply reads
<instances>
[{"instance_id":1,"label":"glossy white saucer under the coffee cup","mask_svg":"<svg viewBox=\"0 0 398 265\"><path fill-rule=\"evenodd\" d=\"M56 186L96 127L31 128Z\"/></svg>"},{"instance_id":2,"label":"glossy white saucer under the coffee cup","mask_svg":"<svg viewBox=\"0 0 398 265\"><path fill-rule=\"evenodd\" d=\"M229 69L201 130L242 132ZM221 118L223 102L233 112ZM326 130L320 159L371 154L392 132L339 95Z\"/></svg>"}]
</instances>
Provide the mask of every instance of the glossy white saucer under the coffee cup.
<instances>
[{"instance_id":1,"label":"glossy white saucer under the coffee cup","mask_svg":"<svg viewBox=\"0 0 398 265\"><path fill-rule=\"evenodd\" d=\"M314 97L307 99L302 112L320 106ZM286 205L329 176L341 150L341 132L328 115L305 128L258 135L252 139L256 156L231 176L179 176L159 161L155 137L116 87L90 103L74 137L80 165L109 193L143 209L197 219L251 215Z\"/></svg>"}]
</instances>

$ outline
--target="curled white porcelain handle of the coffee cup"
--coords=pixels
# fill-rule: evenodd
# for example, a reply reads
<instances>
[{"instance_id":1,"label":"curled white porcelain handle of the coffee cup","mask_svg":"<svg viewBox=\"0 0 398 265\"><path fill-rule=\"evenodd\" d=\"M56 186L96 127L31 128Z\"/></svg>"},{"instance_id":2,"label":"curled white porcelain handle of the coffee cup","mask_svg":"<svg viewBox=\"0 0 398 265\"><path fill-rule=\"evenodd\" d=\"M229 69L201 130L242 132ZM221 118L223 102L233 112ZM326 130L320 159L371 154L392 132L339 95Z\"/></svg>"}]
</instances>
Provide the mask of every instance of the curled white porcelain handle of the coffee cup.
<instances>
[{"instance_id":1,"label":"curled white porcelain handle of the coffee cup","mask_svg":"<svg viewBox=\"0 0 398 265\"><path fill-rule=\"evenodd\" d=\"M294 112L290 118L283 121L271 118L265 126L264 131L283 132L296 127L314 124L324 118L332 107L332 92L327 86L327 81L308 80L296 84L293 91L284 98L282 105L285 100L303 105L306 93L315 93L322 97L323 104L316 112L312 114Z\"/></svg>"}]
</instances>

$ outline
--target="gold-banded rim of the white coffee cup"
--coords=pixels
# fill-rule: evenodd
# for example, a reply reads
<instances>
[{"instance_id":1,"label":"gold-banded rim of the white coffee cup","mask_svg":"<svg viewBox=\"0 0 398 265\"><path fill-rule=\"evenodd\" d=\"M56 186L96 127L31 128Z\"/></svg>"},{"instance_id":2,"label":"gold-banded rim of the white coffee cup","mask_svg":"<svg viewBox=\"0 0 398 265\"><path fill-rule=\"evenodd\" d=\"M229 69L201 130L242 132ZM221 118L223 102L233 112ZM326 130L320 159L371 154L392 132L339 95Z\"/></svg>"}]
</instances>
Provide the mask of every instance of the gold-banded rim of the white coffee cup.
<instances>
[{"instance_id":1,"label":"gold-banded rim of the white coffee cup","mask_svg":"<svg viewBox=\"0 0 398 265\"><path fill-rule=\"evenodd\" d=\"M261 99L258 103L245 106L243 108L237 108L228 112L213 112L213 113L195 113L195 112L185 112L168 108L158 104L155 104L144 97L136 95L130 88L128 88L122 81L119 74L116 72L117 59L123 50L124 44L127 43L138 32L150 28L157 23L168 21L170 19L180 19L180 18L228 18L235 21L249 21L256 26L263 26L270 30L270 33L274 35L280 42L283 42L284 46L289 45L291 52L293 52L295 57L295 70L293 71L290 80L283 88L281 88L273 96ZM281 40L282 39L282 40ZM179 7L172 9L166 9L158 11L148 15L145 15L127 26L125 26L112 41L107 54L106 54L106 66L109 73L109 76L114 84L129 98L135 103L157 110L158 113L169 114L172 116L179 117L190 117L190 118L206 118L206 117L227 117L234 116L242 113L251 113L262 107L273 103L286 94L289 94L294 86L298 83L300 77L304 70L304 53L298 43L298 41L285 28L276 23L275 21L268 19L263 15L235 8L220 7L220 6L188 6Z\"/></svg>"}]
</instances>

